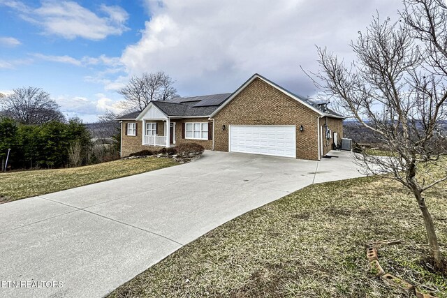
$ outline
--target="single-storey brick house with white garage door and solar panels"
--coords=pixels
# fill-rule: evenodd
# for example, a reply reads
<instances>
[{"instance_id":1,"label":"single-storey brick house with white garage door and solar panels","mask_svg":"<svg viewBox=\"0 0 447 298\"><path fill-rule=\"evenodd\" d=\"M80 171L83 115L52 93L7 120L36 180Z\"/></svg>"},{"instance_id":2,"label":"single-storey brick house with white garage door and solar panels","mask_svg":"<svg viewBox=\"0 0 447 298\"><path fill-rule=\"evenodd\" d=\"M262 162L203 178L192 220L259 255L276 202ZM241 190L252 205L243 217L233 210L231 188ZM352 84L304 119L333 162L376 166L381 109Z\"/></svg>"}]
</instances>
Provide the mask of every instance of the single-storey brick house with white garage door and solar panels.
<instances>
[{"instance_id":1,"label":"single-storey brick house with white garage door and solar panels","mask_svg":"<svg viewBox=\"0 0 447 298\"><path fill-rule=\"evenodd\" d=\"M344 117L255 74L231 94L152 101L120 117L121 156L196 142L205 149L319 161Z\"/></svg>"}]
</instances>

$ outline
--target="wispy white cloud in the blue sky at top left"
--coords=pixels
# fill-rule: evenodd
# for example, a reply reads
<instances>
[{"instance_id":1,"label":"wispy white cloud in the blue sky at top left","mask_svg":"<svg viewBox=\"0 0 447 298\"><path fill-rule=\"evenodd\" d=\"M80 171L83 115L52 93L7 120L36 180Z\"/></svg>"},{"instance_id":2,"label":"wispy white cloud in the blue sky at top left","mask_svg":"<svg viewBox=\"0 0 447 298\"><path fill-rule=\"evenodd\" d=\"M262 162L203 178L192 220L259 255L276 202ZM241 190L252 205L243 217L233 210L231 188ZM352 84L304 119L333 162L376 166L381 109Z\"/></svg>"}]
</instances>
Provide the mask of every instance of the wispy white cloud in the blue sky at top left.
<instances>
[{"instance_id":1,"label":"wispy white cloud in the blue sky at top left","mask_svg":"<svg viewBox=\"0 0 447 298\"><path fill-rule=\"evenodd\" d=\"M42 27L44 33L66 39L101 40L129 30L125 25L129 14L119 6L103 4L97 14L73 1L47 0L39 8L20 1L0 0L0 5L17 10L23 20Z\"/></svg>"}]
</instances>

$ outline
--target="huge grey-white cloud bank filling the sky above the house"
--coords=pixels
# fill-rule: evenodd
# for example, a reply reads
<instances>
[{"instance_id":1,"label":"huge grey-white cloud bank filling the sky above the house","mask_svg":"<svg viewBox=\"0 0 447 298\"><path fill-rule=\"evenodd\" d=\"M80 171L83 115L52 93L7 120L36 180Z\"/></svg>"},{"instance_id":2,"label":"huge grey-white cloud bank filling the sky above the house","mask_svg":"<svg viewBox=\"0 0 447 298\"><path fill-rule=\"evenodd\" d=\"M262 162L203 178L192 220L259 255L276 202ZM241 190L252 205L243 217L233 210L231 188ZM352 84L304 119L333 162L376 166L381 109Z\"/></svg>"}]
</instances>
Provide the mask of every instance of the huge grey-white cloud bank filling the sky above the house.
<instances>
[{"instance_id":1,"label":"huge grey-white cloud bank filling the sky above the house","mask_svg":"<svg viewBox=\"0 0 447 298\"><path fill-rule=\"evenodd\" d=\"M304 95L314 86L315 45L352 58L349 42L376 9L395 15L400 0L147 0L152 13L138 43L126 47L129 75L164 70L180 94L234 91L261 73Z\"/></svg>"}]
</instances>

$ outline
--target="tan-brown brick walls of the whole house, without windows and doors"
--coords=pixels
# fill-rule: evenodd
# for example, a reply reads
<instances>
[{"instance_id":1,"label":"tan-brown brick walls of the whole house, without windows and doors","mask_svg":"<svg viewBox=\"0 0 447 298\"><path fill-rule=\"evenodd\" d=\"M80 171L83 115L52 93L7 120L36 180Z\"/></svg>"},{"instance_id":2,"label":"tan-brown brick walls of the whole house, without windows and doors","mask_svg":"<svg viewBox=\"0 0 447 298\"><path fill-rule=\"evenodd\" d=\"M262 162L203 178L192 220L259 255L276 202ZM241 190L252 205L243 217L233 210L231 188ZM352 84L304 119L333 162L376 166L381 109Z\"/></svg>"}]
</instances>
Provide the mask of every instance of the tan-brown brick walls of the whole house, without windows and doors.
<instances>
[{"instance_id":1,"label":"tan-brown brick walls of the whole house, without windows and doors","mask_svg":"<svg viewBox=\"0 0 447 298\"><path fill-rule=\"evenodd\" d=\"M256 78L214 117L214 150L228 151L230 125L294 125L296 127L296 158L318 160L318 129L321 131L326 121L326 117L321 118L318 128L318 116L318 113L309 107ZM320 142L323 156L332 149L334 132L339 134L339 140L343 137L342 119L327 118L327 121L329 129L332 130L332 138L326 140L323 128ZM142 145L142 121L138 121L137 136L125 135L125 125L132 122L136 121L122 121L123 157L152 147ZM201 144L205 149L212 150L212 140L182 138L182 124L186 122L208 122L208 119L171 119L171 123L175 123L175 144L194 142ZM158 135L165 135L165 122L156 121L156 123ZM226 130L222 130L223 125L226 126ZM304 127L303 132L300 131L300 126Z\"/></svg>"}]
</instances>

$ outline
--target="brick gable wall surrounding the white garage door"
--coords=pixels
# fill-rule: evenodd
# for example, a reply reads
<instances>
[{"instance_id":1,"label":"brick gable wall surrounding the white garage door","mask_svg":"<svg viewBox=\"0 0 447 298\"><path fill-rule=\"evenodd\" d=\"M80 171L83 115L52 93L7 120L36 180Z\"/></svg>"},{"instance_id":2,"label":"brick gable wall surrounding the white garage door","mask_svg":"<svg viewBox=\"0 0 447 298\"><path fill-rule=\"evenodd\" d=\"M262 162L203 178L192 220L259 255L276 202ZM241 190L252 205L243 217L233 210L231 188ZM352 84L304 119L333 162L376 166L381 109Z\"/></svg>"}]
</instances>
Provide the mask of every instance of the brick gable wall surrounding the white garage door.
<instances>
[{"instance_id":1,"label":"brick gable wall surrounding the white garage door","mask_svg":"<svg viewBox=\"0 0 447 298\"><path fill-rule=\"evenodd\" d=\"M313 110L256 78L214 117L214 149L228 151L223 125L295 125L296 158L318 160L317 118Z\"/></svg>"}]
</instances>

